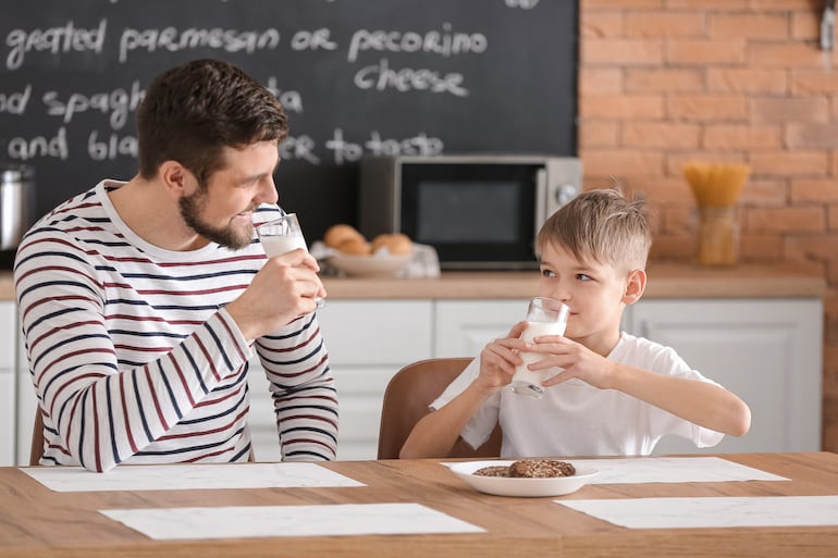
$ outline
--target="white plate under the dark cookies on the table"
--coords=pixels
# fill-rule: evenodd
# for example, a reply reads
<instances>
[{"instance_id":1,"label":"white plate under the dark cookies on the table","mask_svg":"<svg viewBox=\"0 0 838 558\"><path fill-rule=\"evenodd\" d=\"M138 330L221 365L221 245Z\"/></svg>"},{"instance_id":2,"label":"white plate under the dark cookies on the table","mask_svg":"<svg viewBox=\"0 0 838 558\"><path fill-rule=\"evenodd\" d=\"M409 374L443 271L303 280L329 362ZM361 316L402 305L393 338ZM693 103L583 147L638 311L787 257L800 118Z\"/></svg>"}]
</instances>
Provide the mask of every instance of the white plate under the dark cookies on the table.
<instances>
[{"instance_id":1,"label":"white plate under the dark cookies on the table","mask_svg":"<svg viewBox=\"0 0 838 558\"><path fill-rule=\"evenodd\" d=\"M464 461L452 463L451 470L466 481L476 491L496 496L564 496L578 491L591 479L600 474L593 469L577 467L572 476L553 476L550 479L515 479L506 476L482 476L472 474L478 469L491 466L509 466L513 461ZM568 461L574 464L572 461ZM574 464L574 467L576 467Z\"/></svg>"}]
</instances>

